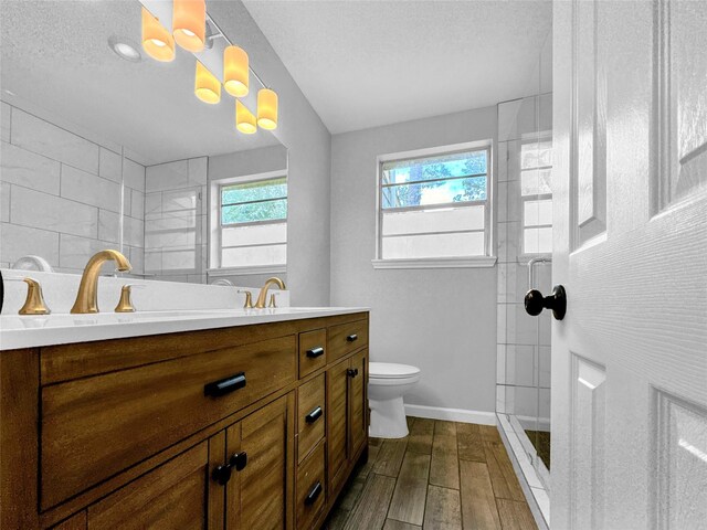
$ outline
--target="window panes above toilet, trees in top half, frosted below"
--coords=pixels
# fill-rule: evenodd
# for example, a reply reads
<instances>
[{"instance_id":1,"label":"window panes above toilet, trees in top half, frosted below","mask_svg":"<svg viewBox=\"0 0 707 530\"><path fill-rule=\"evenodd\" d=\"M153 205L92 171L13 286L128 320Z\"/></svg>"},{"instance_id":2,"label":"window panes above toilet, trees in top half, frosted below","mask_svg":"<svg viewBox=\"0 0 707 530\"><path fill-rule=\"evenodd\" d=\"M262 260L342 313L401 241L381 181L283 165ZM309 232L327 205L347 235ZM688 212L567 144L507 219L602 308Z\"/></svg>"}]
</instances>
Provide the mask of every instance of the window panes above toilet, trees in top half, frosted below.
<instances>
[{"instance_id":1,"label":"window panes above toilet, trees in top half, frosted below","mask_svg":"<svg viewBox=\"0 0 707 530\"><path fill-rule=\"evenodd\" d=\"M379 258L488 255L489 151L484 147L382 161Z\"/></svg>"}]
</instances>

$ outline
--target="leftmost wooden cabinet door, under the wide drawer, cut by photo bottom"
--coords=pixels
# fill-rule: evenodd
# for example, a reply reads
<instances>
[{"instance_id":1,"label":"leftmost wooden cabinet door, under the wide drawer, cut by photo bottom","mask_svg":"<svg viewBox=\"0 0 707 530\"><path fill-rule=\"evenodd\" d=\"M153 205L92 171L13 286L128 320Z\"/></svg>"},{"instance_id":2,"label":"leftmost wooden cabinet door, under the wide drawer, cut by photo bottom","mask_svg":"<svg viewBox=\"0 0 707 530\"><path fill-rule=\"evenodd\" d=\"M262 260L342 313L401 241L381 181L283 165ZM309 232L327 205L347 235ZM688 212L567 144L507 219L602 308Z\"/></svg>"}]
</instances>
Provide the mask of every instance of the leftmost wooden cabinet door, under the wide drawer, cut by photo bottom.
<instances>
[{"instance_id":1,"label":"leftmost wooden cabinet door, under the wide drawer, cut by photo bottom","mask_svg":"<svg viewBox=\"0 0 707 530\"><path fill-rule=\"evenodd\" d=\"M88 507L87 529L204 529L208 443L202 442Z\"/></svg>"}]
</instances>

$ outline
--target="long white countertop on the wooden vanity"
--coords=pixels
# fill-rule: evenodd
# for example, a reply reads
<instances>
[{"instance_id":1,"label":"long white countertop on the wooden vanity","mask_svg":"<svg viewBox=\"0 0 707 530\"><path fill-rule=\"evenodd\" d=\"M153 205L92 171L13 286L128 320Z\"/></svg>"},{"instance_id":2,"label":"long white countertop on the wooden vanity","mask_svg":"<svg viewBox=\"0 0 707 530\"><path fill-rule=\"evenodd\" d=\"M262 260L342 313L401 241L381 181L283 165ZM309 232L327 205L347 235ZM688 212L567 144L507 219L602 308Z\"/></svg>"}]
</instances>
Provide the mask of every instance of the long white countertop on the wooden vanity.
<instances>
[{"instance_id":1,"label":"long white countertop on the wooden vanity","mask_svg":"<svg viewBox=\"0 0 707 530\"><path fill-rule=\"evenodd\" d=\"M365 307L166 310L96 315L0 316L0 350L230 328L368 311Z\"/></svg>"}]
</instances>

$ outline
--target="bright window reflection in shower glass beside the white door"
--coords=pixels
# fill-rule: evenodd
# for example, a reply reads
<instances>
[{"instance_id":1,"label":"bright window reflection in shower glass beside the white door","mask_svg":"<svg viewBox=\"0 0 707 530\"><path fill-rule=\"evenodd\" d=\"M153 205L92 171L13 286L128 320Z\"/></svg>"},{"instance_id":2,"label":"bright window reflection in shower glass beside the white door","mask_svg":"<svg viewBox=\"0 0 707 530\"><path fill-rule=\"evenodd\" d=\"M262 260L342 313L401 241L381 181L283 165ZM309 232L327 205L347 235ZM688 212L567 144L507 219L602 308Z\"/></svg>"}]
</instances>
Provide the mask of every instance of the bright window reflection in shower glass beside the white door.
<instances>
[{"instance_id":1,"label":"bright window reflection in shower glass beside the white door","mask_svg":"<svg viewBox=\"0 0 707 530\"><path fill-rule=\"evenodd\" d=\"M552 140L520 146L523 253L552 252Z\"/></svg>"}]
</instances>

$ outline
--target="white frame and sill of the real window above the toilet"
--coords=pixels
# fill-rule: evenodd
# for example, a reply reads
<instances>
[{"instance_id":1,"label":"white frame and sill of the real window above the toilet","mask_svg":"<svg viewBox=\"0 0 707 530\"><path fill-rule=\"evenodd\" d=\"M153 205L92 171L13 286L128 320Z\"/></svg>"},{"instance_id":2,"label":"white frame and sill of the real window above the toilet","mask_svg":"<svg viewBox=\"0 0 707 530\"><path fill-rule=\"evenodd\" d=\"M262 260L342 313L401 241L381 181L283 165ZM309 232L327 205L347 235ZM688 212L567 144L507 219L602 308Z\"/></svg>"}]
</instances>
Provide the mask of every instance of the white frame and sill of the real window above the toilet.
<instances>
[{"instance_id":1,"label":"white frame and sill of the real window above the toilet","mask_svg":"<svg viewBox=\"0 0 707 530\"><path fill-rule=\"evenodd\" d=\"M402 208L387 208L383 209L383 188L391 188L391 186L383 186L383 165L386 162L418 160L423 158L444 157L447 155L456 155L461 152L473 151L486 151L486 173L475 173L464 177L454 177L445 179L432 179L434 181L447 181L447 180L461 180L464 178L474 178L486 176L486 199L476 201L464 202L447 202L443 204L425 204L415 206L402 206ZM493 227L493 203L494 203L494 149L493 140L472 141L465 144L455 144L451 146L433 147L425 149L416 149L413 151L393 152L388 155L381 155L377 157L377 171L376 171L376 252L372 265L374 268L467 268L467 267L485 267L493 266L496 263L496 257L493 253L494 243L494 227ZM425 181L428 182L428 181ZM393 184L393 186L403 186ZM452 257L414 257L414 258L383 258L382 245L383 245L383 213L384 212L409 212L409 211L430 211L430 210L443 210L443 209L462 209L472 208L475 205L484 206L484 229L483 230L458 230L458 231L445 231L445 232L425 232L423 235L440 235L445 233L484 233L484 254L469 256L452 256ZM415 233L399 234L399 236L410 236Z\"/></svg>"}]
</instances>

